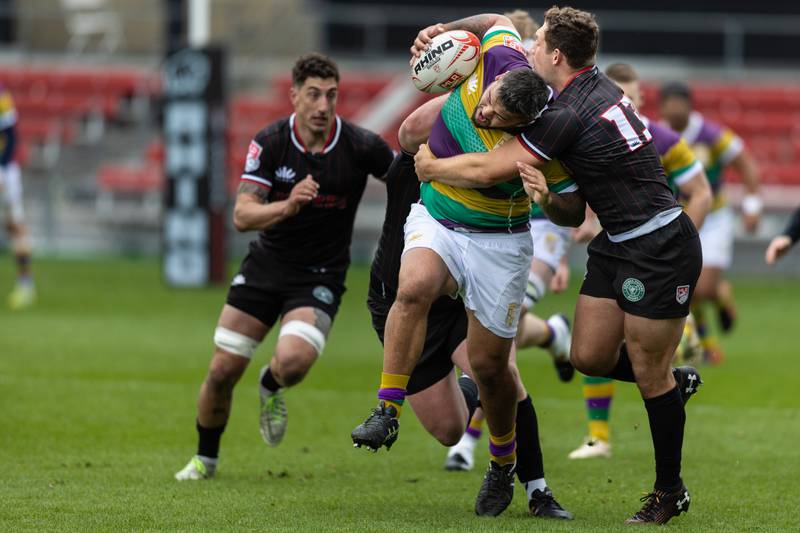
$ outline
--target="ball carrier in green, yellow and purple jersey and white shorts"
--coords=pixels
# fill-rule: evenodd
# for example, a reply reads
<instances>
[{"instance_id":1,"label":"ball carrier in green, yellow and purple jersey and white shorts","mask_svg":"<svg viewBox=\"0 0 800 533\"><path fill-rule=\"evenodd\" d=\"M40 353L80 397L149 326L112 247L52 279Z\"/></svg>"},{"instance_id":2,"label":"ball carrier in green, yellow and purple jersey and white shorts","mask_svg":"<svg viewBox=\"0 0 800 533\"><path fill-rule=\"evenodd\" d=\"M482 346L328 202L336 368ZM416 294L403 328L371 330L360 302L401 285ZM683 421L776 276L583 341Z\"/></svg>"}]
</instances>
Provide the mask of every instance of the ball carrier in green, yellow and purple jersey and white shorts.
<instances>
[{"instance_id":1,"label":"ball carrier in green, yellow and purple jersey and white shorts","mask_svg":"<svg viewBox=\"0 0 800 533\"><path fill-rule=\"evenodd\" d=\"M502 129L533 121L551 94L531 71L518 34L503 15L426 28L412 53L419 54L434 35L450 29L482 36L482 55L433 126L430 146L441 157L491 150L512 139ZM568 180L564 176L554 186L568 188ZM461 295L468 315L467 353L486 412L492 457L475 510L492 516L513 497L517 390L508 358L532 254L530 200L518 177L503 181L510 183L483 191L422 184L421 203L411 207L406 221L398 290L387 317L379 406L352 432L356 445L373 449L396 440L428 311L440 296Z\"/></svg>"}]
</instances>

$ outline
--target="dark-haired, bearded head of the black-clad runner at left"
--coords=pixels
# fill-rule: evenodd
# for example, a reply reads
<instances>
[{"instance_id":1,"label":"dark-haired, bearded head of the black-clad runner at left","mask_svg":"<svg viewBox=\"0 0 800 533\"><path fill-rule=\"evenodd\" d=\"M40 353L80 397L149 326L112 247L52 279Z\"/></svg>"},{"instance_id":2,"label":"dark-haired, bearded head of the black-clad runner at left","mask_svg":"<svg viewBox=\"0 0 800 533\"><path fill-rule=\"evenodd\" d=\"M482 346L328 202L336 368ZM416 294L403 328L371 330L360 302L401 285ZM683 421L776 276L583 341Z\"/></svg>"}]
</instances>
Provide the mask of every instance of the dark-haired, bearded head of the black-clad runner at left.
<instances>
[{"instance_id":1,"label":"dark-haired, bearded head of the black-clad runner at left","mask_svg":"<svg viewBox=\"0 0 800 533\"><path fill-rule=\"evenodd\" d=\"M297 120L314 133L330 130L336 118L339 69L322 54L299 58L292 68L290 95Z\"/></svg>"}]
</instances>

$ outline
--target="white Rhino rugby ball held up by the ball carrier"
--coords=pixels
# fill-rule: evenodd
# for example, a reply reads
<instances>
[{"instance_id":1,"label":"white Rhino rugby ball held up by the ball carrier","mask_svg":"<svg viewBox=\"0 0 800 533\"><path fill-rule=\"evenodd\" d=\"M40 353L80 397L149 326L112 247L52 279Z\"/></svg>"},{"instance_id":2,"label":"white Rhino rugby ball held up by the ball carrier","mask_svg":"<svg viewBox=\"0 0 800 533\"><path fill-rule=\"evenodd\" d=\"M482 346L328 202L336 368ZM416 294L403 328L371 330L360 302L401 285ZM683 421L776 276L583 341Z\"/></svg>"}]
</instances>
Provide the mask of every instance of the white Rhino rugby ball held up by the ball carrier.
<instances>
[{"instance_id":1,"label":"white Rhino rugby ball held up by the ball carrier","mask_svg":"<svg viewBox=\"0 0 800 533\"><path fill-rule=\"evenodd\" d=\"M420 91L441 94L452 91L478 66L481 40L474 33L453 30L433 38L411 65L411 80Z\"/></svg>"}]
</instances>

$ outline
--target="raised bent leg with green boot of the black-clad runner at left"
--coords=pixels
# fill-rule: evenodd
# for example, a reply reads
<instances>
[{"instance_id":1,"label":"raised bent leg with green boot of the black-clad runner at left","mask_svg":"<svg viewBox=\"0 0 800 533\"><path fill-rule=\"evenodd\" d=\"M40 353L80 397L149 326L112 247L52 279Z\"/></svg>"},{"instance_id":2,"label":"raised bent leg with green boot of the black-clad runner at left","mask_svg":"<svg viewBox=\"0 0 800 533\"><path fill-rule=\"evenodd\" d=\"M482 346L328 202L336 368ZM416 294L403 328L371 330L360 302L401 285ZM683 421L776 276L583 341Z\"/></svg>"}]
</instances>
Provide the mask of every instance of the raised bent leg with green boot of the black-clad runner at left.
<instances>
[{"instance_id":1,"label":"raised bent leg with green boot of the black-clad runner at left","mask_svg":"<svg viewBox=\"0 0 800 533\"><path fill-rule=\"evenodd\" d=\"M319 287L322 286L317 286L321 290ZM284 389L300 383L325 348L333 322L328 313L336 312L333 304L338 306L339 300L338 296L334 300L334 293L328 291L331 305L326 305L326 309L306 305L310 303L308 298L289 300L284 306L290 310L281 318L275 355L259 374L259 427L261 437L270 446L277 446L283 440L289 420ZM303 307L292 308L301 304Z\"/></svg>"}]
</instances>

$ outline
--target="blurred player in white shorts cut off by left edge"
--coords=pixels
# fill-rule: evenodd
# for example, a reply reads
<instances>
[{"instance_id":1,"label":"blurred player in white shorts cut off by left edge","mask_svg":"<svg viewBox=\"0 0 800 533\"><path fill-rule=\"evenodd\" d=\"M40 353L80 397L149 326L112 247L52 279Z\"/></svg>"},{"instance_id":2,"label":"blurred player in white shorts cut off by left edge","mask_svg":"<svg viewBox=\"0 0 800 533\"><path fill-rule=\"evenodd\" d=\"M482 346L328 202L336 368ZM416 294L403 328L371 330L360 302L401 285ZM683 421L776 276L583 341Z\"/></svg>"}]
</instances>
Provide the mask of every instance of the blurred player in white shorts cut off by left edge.
<instances>
[{"instance_id":1,"label":"blurred player in white shorts cut off by left edge","mask_svg":"<svg viewBox=\"0 0 800 533\"><path fill-rule=\"evenodd\" d=\"M31 276L31 248L22 208L22 177L14 159L16 146L17 110L11 93L0 85L0 201L17 264L17 283L8 296L8 306L23 309L36 301L36 288Z\"/></svg>"}]
</instances>

